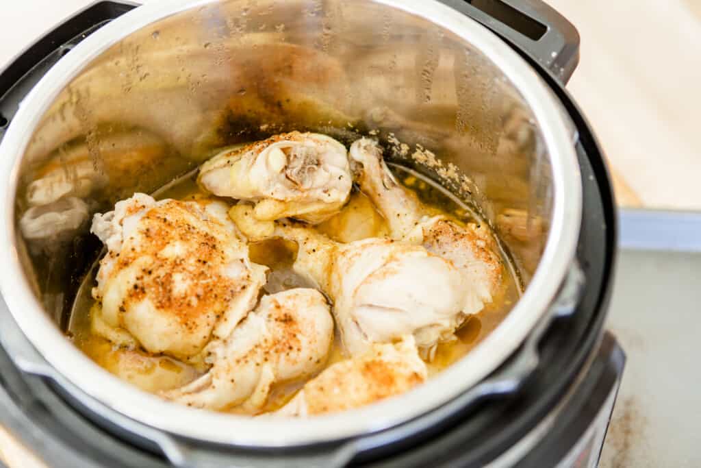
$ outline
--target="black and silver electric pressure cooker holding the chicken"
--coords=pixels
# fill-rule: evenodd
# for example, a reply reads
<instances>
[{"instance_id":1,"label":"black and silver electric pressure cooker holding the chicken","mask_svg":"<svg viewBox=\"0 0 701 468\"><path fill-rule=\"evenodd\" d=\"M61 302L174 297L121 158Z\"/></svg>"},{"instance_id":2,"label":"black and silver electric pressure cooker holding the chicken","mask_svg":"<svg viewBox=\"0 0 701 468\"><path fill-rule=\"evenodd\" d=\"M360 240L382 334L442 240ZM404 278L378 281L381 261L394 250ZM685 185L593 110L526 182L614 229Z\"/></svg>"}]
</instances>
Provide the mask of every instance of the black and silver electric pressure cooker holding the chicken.
<instances>
[{"instance_id":1,"label":"black and silver electric pressure cooker holding the chicken","mask_svg":"<svg viewBox=\"0 0 701 468\"><path fill-rule=\"evenodd\" d=\"M578 34L536 0L99 2L0 79L0 422L55 466L595 466L625 362L604 328L615 203L564 90ZM374 135L472 203L524 293L425 385L336 415L208 413L65 336L93 213L217 148Z\"/></svg>"}]
</instances>

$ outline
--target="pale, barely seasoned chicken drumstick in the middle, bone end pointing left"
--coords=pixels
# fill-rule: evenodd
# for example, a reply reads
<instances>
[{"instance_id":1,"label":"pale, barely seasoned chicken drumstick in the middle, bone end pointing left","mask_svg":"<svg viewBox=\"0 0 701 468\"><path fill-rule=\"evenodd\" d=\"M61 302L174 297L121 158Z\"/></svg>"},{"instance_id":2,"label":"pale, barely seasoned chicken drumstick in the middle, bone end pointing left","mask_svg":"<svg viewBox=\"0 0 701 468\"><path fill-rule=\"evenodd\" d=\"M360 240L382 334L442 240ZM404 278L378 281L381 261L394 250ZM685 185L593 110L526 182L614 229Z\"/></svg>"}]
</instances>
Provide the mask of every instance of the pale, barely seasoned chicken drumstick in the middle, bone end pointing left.
<instances>
[{"instance_id":1,"label":"pale, barely seasoned chicken drumstick in the middle, bone end pointing left","mask_svg":"<svg viewBox=\"0 0 701 468\"><path fill-rule=\"evenodd\" d=\"M460 272L422 246L391 239L336 243L299 223L256 225L246 213L238 206L230 215L250 240L269 234L298 244L293 269L334 300L343 347L352 356L404 335L431 349L463 321Z\"/></svg>"}]
</instances>

